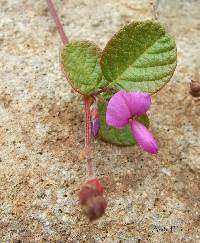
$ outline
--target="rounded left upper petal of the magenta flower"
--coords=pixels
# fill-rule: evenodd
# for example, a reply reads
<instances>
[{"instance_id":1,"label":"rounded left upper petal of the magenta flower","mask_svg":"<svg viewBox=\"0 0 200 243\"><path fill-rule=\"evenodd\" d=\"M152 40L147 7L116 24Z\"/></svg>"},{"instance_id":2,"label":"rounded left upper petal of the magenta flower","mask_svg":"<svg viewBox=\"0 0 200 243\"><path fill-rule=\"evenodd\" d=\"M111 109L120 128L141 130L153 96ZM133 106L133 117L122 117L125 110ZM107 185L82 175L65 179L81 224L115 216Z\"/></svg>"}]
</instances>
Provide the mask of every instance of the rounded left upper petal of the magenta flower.
<instances>
[{"instance_id":1,"label":"rounded left upper petal of the magenta flower","mask_svg":"<svg viewBox=\"0 0 200 243\"><path fill-rule=\"evenodd\" d=\"M109 126L113 126L115 128L123 128L128 124L132 114L125 99L126 95L127 92L121 90L114 94L108 102L106 111L106 123Z\"/></svg>"}]
</instances>

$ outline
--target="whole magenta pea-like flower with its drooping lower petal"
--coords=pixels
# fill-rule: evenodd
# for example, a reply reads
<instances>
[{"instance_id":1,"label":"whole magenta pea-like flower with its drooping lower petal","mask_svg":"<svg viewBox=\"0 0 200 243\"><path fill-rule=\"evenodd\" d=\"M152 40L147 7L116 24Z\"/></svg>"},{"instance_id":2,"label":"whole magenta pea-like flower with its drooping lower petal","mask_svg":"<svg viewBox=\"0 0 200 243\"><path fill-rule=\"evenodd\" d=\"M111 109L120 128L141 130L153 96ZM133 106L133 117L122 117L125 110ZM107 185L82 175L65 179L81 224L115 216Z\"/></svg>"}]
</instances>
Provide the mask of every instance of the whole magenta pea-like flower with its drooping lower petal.
<instances>
[{"instance_id":1,"label":"whole magenta pea-like flower with its drooping lower petal","mask_svg":"<svg viewBox=\"0 0 200 243\"><path fill-rule=\"evenodd\" d=\"M108 102L106 122L109 126L123 128L130 124L133 137L147 152L156 154L158 145L150 131L137 118L146 113L151 105L151 97L142 92L117 92Z\"/></svg>"}]
</instances>

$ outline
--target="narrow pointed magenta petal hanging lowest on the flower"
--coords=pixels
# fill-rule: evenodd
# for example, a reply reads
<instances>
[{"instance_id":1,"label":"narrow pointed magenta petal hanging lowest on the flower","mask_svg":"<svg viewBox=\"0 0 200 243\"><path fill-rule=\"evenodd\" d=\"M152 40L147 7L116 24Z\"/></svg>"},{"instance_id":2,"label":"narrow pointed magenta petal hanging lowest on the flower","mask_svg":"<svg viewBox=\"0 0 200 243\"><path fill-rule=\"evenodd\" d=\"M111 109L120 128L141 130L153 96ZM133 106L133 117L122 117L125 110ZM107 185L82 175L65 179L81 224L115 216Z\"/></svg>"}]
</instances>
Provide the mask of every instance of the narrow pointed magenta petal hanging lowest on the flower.
<instances>
[{"instance_id":1,"label":"narrow pointed magenta petal hanging lowest on the flower","mask_svg":"<svg viewBox=\"0 0 200 243\"><path fill-rule=\"evenodd\" d=\"M133 136L137 143L151 154L158 153L158 144L149 130L140 122L133 120L131 122Z\"/></svg>"}]
</instances>

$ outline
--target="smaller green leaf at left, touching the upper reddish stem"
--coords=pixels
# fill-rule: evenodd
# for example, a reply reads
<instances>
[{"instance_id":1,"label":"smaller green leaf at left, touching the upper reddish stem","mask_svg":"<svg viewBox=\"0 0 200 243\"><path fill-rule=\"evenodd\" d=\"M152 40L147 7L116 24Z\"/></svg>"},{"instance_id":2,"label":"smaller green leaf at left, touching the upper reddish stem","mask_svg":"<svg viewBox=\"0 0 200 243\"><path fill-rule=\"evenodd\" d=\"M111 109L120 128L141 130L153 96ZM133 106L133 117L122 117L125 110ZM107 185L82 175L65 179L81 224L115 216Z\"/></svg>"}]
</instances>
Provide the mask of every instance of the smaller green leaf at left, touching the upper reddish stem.
<instances>
[{"instance_id":1,"label":"smaller green leaf at left, touching the upper reddish stem","mask_svg":"<svg viewBox=\"0 0 200 243\"><path fill-rule=\"evenodd\" d=\"M100 66L101 49L90 41L76 41L61 50L61 65L71 86L83 95L91 95L108 83Z\"/></svg>"}]
</instances>

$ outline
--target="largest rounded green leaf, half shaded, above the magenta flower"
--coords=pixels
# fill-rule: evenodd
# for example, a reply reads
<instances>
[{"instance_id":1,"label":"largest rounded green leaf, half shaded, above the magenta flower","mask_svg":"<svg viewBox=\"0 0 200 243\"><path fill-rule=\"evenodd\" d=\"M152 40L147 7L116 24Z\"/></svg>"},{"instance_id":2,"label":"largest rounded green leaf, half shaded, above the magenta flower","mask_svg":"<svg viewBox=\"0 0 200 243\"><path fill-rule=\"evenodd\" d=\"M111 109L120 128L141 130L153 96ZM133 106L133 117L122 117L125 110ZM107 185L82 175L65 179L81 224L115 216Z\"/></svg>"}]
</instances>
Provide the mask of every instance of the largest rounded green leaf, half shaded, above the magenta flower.
<instances>
[{"instance_id":1,"label":"largest rounded green leaf, half shaded, above the magenta flower","mask_svg":"<svg viewBox=\"0 0 200 243\"><path fill-rule=\"evenodd\" d=\"M108 42L101 57L106 80L126 91L154 93L176 68L176 44L157 22L133 22Z\"/></svg>"}]
</instances>

